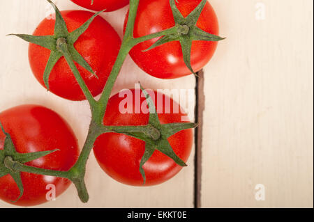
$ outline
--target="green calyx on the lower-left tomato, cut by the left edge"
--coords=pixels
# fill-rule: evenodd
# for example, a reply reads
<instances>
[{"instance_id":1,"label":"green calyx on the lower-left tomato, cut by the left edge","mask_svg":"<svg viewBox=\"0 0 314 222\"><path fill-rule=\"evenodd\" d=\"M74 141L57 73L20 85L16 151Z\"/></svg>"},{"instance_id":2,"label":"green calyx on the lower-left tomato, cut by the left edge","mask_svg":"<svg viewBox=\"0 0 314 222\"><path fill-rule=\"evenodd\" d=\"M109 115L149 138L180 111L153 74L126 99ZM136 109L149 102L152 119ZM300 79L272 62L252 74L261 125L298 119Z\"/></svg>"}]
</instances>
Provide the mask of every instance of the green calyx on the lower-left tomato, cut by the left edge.
<instances>
[{"instance_id":1,"label":"green calyx on the lower-left tomato, cut by the left edge","mask_svg":"<svg viewBox=\"0 0 314 222\"><path fill-rule=\"evenodd\" d=\"M52 152L56 152L58 150L49 150L49 151L43 151L43 152L31 152L31 153L19 153L15 150L15 145L13 143L13 140L8 134L4 128L3 125L0 122L0 128L3 134L6 135L6 138L4 140L3 144L3 150L0 150L0 177L3 177L5 175L11 175L13 177L13 180L17 184L17 187L20 190L20 196L17 198L19 200L24 193L24 188L22 184L21 179L21 169L24 164L26 164L29 161L33 161L35 159L39 159L40 157L45 157L48 154L51 154ZM13 203L17 202L17 200L12 200Z\"/></svg>"}]
</instances>

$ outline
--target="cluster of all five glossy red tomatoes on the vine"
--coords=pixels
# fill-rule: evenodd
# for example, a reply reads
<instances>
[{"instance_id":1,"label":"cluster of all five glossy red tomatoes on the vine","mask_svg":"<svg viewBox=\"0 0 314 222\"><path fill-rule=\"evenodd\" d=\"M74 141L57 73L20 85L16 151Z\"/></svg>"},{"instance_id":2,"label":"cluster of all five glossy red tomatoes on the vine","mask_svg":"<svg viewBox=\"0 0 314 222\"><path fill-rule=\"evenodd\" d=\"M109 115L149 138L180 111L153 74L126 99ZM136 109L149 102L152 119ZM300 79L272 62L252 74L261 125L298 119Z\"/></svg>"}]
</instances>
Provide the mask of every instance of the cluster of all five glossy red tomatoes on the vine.
<instances>
[{"instance_id":1,"label":"cluster of all five glossy red tomatoes on the vine","mask_svg":"<svg viewBox=\"0 0 314 222\"><path fill-rule=\"evenodd\" d=\"M77 5L90 10L106 10L106 12L118 10L128 5L128 0L71 0ZM176 6L183 17L187 17L202 0L180 0ZM141 0L137 10L134 26L134 38L170 29L175 25L169 0ZM66 10L61 12L69 33L74 32L89 20L94 14L85 10ZM33 35L36 37L53 36L57 29L56 16L53 19L43 19ZM126 16L125 28L128 22ZM218 19L214 9L207 2L200 14L197 28L218 35ZM60 33L59 33L60 34ZM21 35L22 36L22 35ZM19 37L21 37L19 36ZM22 36L22 38L25 38ZM161 37L160 37L161 38ZM160 38L153 38L135 45L130 50L133 61L148 74L160 79L175 79L192 74L187 68L182 47L179 41L167 42L149 51L145 49L154 45ZM68 37L64 36L67 41ZM190 65L196 72L204 67L216 50L217 42L197 40L190 49ZM57 46L58 47L58 46ZM121 39L114 28L103 17L97 16L81 33L74 43L76 51L88 64L75 60L75 66L82 80L90 90L92 96L99 95L119 54ZM64 50L64 49L63 49ZM75 53L70 51L70 53ZM75 57L73 57L75 58ZM29 44L29 63L34 76L41 85L47 88L44 81L47 64L53 60L52 51L45 44ZM82 65L85 64L85 65ZM84 66L84 67L83 67ZM88 68L94 70L89 72ZM67 100L80 101L87 97L73 75L66 56L58 57L51 68L49 75L50 92ZM131 90L133 95L133 112L121 113L119 105L123 98L114 95L107 103L103 125L105 126L144 126L149 124L149 113L136 113L134 109L136 90ZM154 92L155 97L160 93ZM166 95L163 98L163 109L169 109L170 113L158 113L160 124L180 123L186 113L174 112L173 106L177 103L172 99L165 104ZM147 98L141 97L140 104L147 102ZM154 101L155 106L156 101ZM170 104L170 107L168 107ZM179 104L177 104L179 106ZM137 107L138 108L138 107ZM25 165L37 168L45 168L56 171L68 171L77 161L79 150L77 139L69 125L57 113L43 106L24 105L16 106L0 113L0 122L3 129L12 137L15 149L20 153L40 152L58 149L59 151L40 157ZM0 132L0 150L3 150L6 134ZM167 138L172 150L182 160L187 161L193 143L192 129L184 129ZM103 171L119 182L133 186L142 186L143 177L139 171L140 162L145 152L145 142L134 136L118 133L106 133L100 135L94 143L94 154ZM176 162L156 150L143 166L146 173L144 185L160 184L174 177L182 168ZM33 173L21 173L24 187L23 196L14 204L29 206L38 205L47 201L47 185L53 184L57 196L65 191L70 180L61 177L36 175ZM19 197L19 187L10 175L0 177L0 198L8 203Z\"/></svg>"}]
</instances>

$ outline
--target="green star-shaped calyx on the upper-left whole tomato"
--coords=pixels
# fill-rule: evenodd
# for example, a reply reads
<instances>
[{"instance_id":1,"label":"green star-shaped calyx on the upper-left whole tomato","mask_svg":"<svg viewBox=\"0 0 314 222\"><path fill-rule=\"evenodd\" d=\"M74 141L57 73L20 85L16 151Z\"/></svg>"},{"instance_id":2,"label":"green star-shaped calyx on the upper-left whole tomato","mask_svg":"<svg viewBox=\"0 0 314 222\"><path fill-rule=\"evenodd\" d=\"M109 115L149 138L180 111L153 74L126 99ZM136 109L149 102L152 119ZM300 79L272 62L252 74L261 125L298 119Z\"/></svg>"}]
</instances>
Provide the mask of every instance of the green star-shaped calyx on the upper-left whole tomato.
<instances>
[{"instance_id":1,"label":"green star-shaped calyx on the upper-left whole tomato","mask_svg":"<svg viewBox=\"0 0 314 222\"><path fill-rule=\"evenodd\" d=\"M87 100L91 99L91 95L89 92L89 89L84 84L84 81L82 77L80 76L80 72L78 72L75 63L78 63L81 65L84 69L91 72L95 77L97 77L94 70L91 68L89 63L85 61L85 59L82 57L82 55L75 49L74 44L77 41L77 39L82 35L88 28L91 22L93 22L94 18L102 13L104 10L96 13L93 15L87 22L82 24L80 28L76 29L75 31L69 33L68 28L66 26L66 22L64 21L63 17L61 16L61 13L57 6L54 5L54 3L50 0L47 0L52 7L55 10L56 15L56 22L54 26L54 35L43 35L43 36L37 36L37 35L24 35L24 34L10 34L15 35L19 38L22 38L22 40L25 40L27 42L33 43L35 45L40 45L41 47L45 47L46 49L50 49L50 58L48 59L47 65L45 67L45 71L43 74L43 81L45 83L45 86L47 90L50 90L49 86L49 77L50 73L52 72L52 69L54 68L54 65L59 61L59 59L62 56L65 56L67 59L67 63L70 66L73 74L75 74L75 78L79 82L80 86L82 86L82 90L87 95ZM65 40L65 42L64 42ZM67 50L59 50L60 44L65 43L67 45ZM66 55L67 54L67 55Z\"/></svg>"}]
</instances>

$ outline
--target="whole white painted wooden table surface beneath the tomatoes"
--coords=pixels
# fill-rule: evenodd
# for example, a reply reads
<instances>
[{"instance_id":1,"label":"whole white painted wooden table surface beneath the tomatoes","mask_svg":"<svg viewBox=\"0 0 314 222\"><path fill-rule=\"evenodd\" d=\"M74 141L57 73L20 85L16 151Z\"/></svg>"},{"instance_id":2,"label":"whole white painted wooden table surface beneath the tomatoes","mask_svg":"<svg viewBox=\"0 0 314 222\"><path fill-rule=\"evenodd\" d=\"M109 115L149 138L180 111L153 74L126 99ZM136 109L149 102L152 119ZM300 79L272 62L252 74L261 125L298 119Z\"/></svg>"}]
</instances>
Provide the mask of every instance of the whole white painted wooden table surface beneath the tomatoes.
<instances>
[{"instance_id":1,"label":"whole white painted wooden table surface beneath the tomatoes","mask_svg":"<svg viewBox=\"0 0 314 222\"><path fill-rule=\"evenodd\" d=\"M313 1L210 2L227 40L200 79L205 95L200 205L313 207ZM57 6L81 9L68 0ZM102 15L120 35L126 10ZM32 33L49 11L43 0L0 1L0 111L26 103L54 109L75 129L82 147L90 120L87 102L47 93L29 68L28 44L5 37ZM113 93L137 81L154 89L195 88L193 76L155 79L127 58ZM40 207L193 207L194 151L188 165L165 184L134 188L105 175L91 154L89 203L80 203L71 186ZM257 184L264 187L264 201L255 199ZM14 206L0 202L1 207Z\"/></svg>"}]
</instances>

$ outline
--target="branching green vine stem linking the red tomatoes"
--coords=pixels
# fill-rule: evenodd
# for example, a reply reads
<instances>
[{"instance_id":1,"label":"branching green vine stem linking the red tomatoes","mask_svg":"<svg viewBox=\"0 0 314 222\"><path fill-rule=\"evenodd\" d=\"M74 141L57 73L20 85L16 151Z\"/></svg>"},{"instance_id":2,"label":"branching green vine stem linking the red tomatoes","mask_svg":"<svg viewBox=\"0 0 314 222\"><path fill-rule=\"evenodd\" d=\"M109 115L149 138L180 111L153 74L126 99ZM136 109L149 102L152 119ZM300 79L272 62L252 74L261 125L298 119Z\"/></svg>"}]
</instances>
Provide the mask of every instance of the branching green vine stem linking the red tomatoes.
<instances>
[{"instance_id":1,"label":"branching green vine stem linking the red tomatoes","mask_svg":"<svg viewBox=\"0 0 314 222\"><path fill-rule=\"evenodd\" d=\"M52 6L54 6L54 3L52 3L52 1L50 0L47 0L47 1L49 1L52 4ZM66 24L63 21L61 15L59 16L59 14L57 14L59 16L59 25L61 27L59 32L63 30L63 32L65 32L66 35L68 35L68 38L65 39L61 35L59 35L59 33L54 33L54 38L57 38L56 48L52 47L51 45L47 45L47 42L45 42L47 40L48 41L51 40L53 42L52 36L38 37L38 36L32 36L32 35L17 35L18 37L24 40L27 40L29 42L31 41L40 42L40 38L43 38L43 42L42 42L43 44L41 45L43 47L52 48L54 50L53 51L54 54L52 54L52 56L56 56L56 58L58 57L60 58L61 56L64 56L66 58L68 65L70 66L71 70L73 71L73 74L75 75L75 79L77 79L77 83L81 86L82 91L84 95L87 97L87 100L91 106L92 120L89 126L89 133L84 143L84 147L82 148L82 151L80 153L80 157L78 158L76 164L72 168L70 168L69 171L51 171L51 170L46 170L43 168L26 166L18 161L14 161L13 158L5 157L3 160L4 166L6 167L3 170L4 174L6 173L7 170L10 170L11 173L27 172L27 173L36 173L40 175L50 175L50 176L55 176L55 177L67 178L68 180L71 180L73 184L75 184L80 200L82 200L83 203L87 203L87 201L89 200L89 194L88 194L85 182L84 182L87 161L89 159L89 155L91 153L91 150L94 147L94 143L96 139L98 138L98 136L100 136L101 134L109 133L109 132L122 133L129 136L133 136L135 138L140 138L143 141L146 141L148 144L147 152L151 150L151 147L149 147L149 145L151 146L153 143L156 142L156 146L158 146L158 144L160 143L159 144L160 150L163 153L167 154L169 157L174 159L180 166L186 166L186 164L183 161L181 161L181 159L179 159L179 157L177 157L176 154L174 154L171 146L167 144L167 137L181 130L197 127L197 125L194 123L181 123L181 124L174 123L170 125L160 125L157 114L155 114L155 116L151 114L149 125L146 125L146 126L119 127L119 126L104 126L103 125L103 118L105 116L105 111L107 108L108 100L110 98L110 94L112 92L112 88L114 87L114 83L117 81L118 74L121 70L122 65L124 64L126 56L130 52L130 49L132 49L135 45L141 42L151 40L153 38L158 38L158 37L167 36L167 35L187 35L189 31L189 28L187 26L182 25L182 24L177 24L171 29L166 29L164 31L153 33L151 35L146 35L140 38L134 38L133 31L134 31L135 19L137 15L137 8L139 5L139 2L140 0L130 0L128 23L126 25L126 31L124 34L124 39L121 44L121 49L119 51L117 60L114 63L114 66L110 73L110 77L107 79L107 83L105 84L103 93L100 96L100 99L98 101L96 101L94 97L91 95L89 88L87 88L86 84L84 83L84 80L80 76L80 72L77 70L75 63L73 62L73 58L74 58L73 55L75 55L75 58L80 63L80 65L83 65L87 69L90 69L90 67L85 61L82 61L82 58L80 58L80 55L76 54L75 49L73 48L74 41L69 41L72 39L74 40L77 39L78 35L87 29L92 19L94 19L94 17L96 17L98 13L96 13L94 17L89 19L89 21L86 24L84 24L82 28L78 29L76 32L73 32L73 33L66 33L67 31ZM170 4L171 3L173 4L173 2L174 0L170 0ZM204 2L206 2L206 0L203 0L202 3L200 3L200 5L204 4ZM54 6L54 9L56 10L56 13L59 12L56 6ZM200 8L199 10L202 10L202 8ZM56 23L57 23L57 20L56 20ZM204 35L204 33L202 34ZM71 50L71 52L69 50ZM52 58L52 60L56 61L56 59L54 58ZM51 69L53 67L52 65L50 64ZM49 77L48 72L47 72L47 77ZM142 90L144 94L147 94L144 91L144 89ZM151 101L149 97L147 97L147 101ZM151 106L150 109L153 109L153 105L149 105L149 106ZM162 148L162 147L167 147L167 148ZM8 148L6 150L8 150ZM145 161L147 161L147 159L144 159L143 157L141 166L144 164ZM142 172L142 168L140 168L140 171L144 177L144 172ZM0 176L1 176L1 171L0 171ZM145 177L144 177L144 181L145 181Z\"/></svg>"}]
</instances>

